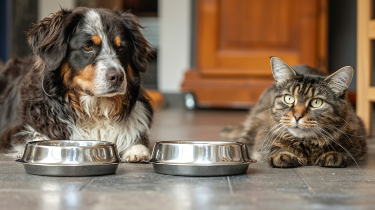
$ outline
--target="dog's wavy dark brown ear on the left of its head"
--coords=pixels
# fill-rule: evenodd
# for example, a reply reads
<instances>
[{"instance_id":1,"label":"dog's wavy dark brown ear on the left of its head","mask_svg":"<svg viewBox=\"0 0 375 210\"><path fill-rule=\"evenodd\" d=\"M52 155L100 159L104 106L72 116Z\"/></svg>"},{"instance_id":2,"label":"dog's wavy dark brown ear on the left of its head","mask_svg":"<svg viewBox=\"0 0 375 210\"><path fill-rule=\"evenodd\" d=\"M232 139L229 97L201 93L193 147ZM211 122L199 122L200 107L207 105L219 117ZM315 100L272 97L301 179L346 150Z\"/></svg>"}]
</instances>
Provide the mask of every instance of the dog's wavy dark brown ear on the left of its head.
<instances>
[{"instance_id":1,"label":"dog's wavy dark brown ear on the left of its head","mask_svg":"<svg viewBox=\"0 0 375 210\"><path fill-rule=\"evenodd\" d=\"M57 69L66 56L68 40L76 25L74 17L69 17L71 14L72 10L61 9L33 23L27 33L37 64L44 65L47 70Z\"/></svg>"}]
</instances>

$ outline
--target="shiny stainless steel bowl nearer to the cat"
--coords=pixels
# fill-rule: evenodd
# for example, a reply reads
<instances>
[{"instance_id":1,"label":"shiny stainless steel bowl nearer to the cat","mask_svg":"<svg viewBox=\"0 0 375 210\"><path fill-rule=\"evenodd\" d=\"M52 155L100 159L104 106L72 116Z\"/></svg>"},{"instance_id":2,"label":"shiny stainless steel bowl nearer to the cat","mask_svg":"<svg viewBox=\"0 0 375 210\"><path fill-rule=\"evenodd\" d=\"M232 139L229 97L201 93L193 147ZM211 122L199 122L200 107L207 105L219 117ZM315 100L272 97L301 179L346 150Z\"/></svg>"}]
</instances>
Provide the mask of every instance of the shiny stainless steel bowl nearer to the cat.
<instances>
[{"instance_id":1,"label":"shiny stainless steel bowl nearer to the cat","mask_svg":"<svg viewBox=\"0 0 375 210\"><path fill-rule=\"evenodd\" d=\"M240 174L256 162L245 143L228 141L159 141L144 161L155 172L183 176Z\"/></svg>"}]
</instances>

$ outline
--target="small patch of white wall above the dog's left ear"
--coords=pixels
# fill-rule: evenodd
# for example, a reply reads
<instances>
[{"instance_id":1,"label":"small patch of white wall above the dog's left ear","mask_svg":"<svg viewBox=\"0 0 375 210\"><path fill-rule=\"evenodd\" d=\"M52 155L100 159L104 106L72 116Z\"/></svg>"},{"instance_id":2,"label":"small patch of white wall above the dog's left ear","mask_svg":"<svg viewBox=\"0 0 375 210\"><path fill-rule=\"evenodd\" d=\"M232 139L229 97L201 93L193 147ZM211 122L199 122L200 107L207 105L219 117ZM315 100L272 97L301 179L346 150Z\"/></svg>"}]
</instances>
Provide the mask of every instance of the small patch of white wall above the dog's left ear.
<instances>
[{"instance_id":1,"label":"small patch of white wall above the dog's left ear","mask_svg":"<svg viewBox=\"0 0 375 210\"><path fill-rule=\"evenodd\" d=\"M38 0L38 20L47 17L51 13L56 13L61 7L68 9L76 6L76 0Z\"/></svg>"}]
</instances>

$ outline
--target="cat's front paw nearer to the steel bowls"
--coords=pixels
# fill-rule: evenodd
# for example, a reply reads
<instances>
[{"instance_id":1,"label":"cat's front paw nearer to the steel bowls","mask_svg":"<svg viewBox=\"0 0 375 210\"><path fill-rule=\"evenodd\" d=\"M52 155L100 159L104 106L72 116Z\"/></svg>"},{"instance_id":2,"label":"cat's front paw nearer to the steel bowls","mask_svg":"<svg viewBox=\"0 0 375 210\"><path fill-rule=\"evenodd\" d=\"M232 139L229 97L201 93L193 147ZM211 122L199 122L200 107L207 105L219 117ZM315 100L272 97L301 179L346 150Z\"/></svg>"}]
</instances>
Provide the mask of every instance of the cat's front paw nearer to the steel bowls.
<instances>
[{"instance_id":1,"label":"cat's front paw nearer to the steel bowls","mask_svg":"<svg viewBox=\"0 0 375 210\"><path fill-rule=\"evenodd\" d=\"M294 168L299 166L298 157L289 152L281 152L268 158L268 165L273 168Z\"/></svg>"}]
</instances>

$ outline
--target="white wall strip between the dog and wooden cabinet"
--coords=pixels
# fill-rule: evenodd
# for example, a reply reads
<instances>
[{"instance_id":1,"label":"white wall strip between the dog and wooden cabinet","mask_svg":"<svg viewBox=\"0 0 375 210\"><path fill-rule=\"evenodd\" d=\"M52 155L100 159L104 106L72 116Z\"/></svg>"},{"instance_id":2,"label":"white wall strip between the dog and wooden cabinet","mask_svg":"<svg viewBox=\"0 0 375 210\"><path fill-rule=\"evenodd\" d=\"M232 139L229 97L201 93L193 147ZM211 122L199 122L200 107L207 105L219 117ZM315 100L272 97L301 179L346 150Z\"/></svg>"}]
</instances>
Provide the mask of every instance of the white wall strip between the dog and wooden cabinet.
<instances>
[{"instance_id":1,"label":"white wall strip between the dog and wooden cabinet","mask_svg":"<svg viewBox=\"0 0 375 210\"><path fill-rule=\"evenodd\" d=\"M158 89L179 93L190 67L190 0L159 0Z\"/></svg>"}]
</instances>

